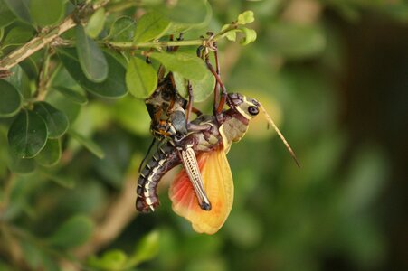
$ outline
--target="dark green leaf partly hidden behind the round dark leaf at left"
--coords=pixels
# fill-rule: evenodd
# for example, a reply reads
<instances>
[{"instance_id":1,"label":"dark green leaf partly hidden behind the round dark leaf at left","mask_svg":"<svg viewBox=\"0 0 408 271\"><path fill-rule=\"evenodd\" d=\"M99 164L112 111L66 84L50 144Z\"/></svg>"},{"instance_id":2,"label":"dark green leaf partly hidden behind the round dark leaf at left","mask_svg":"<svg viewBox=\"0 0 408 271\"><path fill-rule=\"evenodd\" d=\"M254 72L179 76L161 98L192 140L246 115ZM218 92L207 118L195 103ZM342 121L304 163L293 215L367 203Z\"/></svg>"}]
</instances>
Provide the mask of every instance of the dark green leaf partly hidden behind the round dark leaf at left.
<instances>
[{"instance_id":1,"label":"dark green leaf partly hidden behind the round dark leaf at left","mask_svg":"<svg viewBox=\"0 0 408 271\"><path fill-rule=\"evenodd\" d=\"M60 110L52 107L47 102L37 102L34 104L34 111L38 113L47 124L48 137L61 137L68 130L68 117Z\"/></svg>"}]
</instances>

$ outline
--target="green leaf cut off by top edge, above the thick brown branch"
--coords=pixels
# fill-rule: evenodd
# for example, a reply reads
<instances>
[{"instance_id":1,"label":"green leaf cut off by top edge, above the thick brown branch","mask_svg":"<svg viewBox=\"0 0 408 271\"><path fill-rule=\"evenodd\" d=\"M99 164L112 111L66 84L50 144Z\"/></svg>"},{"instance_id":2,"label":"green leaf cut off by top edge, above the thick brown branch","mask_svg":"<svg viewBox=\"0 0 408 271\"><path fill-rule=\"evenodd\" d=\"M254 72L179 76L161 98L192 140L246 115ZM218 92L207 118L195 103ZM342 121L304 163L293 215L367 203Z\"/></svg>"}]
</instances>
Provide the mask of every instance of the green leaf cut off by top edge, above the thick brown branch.
<instances>
[{"instance_id":1,"label":"green leaf cut off by top edge, above the thick brown branch","mask_svg":"<svg viewBox=\"0 0 408 271\"><path fill-rule=\"evenodd\" d=\"M30 0L30 14L33 22L40 26L58 23L65 13L62 0Z\"/></svg>"}]
</instances>

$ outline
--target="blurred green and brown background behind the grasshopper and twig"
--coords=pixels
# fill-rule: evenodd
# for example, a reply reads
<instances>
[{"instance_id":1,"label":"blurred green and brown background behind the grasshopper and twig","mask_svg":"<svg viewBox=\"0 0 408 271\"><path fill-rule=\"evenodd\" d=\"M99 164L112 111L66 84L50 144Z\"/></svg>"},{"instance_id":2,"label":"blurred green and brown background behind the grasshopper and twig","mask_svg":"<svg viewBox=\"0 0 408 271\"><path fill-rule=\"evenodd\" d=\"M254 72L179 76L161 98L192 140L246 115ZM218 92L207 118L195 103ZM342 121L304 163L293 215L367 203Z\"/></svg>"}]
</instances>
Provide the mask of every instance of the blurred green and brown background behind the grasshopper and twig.
<instances>
[{"instance_id":1,"label":"blurred green and brown background behind the grasshopper and twig","mask_svg":"<svg viewBox=\"0 0 408 271\"><path fill-rule=\"evenodd\" d=\"M160 208L138 215L137 168L151 140L147 112L134 98L92 98L74 126L93 136L104 159L70 141L57 169L60 178L13 176L13 204L2 217L30 232L15 234L22 237L17 242L28 266L78 269L30 240L46 243L52 232L55 239L62 221L81 214L77 220L85 215L93 221L92 238L68 255L106 269L136 255L137 262L149 259L137 270L408 270L408 4L210 4L209 26L186 33L186 39L218 31L244 10L254 12L256 42L219 44L222 78L229 91L269 108L302 167L260 115L228 154L235 198L217 234L196 234L173 213L167 197L171 176L160 184ZM76 114L71 110L71 118ZM6 167L0 168L7 176ZM69 240L61 235L60 243ZM10 236L0 243L5 268L13 262L8 250L16 240Z\"/></svg>"}]
</instances>

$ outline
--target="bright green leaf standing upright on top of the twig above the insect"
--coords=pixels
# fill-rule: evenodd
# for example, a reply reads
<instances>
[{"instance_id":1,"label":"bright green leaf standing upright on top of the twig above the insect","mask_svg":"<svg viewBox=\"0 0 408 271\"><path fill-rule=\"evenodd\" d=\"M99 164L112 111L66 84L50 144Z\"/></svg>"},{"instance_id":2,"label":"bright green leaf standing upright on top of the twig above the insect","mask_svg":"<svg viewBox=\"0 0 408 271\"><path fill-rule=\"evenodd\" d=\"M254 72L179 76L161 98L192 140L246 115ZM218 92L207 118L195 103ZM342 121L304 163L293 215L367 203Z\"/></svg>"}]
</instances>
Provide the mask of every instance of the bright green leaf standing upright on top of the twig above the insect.
<instances>
[{"instance_id":1,"label":"bright green leaf standing upright on top of the twig above the insect","mask_svg":"<svg viewBox=\"0 0 408 271\"><path fill-rule=\"evenodd\" d=\"M133 42L136 44L149 42L161 37L170 26L170 22L162 14L151 12L138 19Z\"/></svg>"}]
</instances>

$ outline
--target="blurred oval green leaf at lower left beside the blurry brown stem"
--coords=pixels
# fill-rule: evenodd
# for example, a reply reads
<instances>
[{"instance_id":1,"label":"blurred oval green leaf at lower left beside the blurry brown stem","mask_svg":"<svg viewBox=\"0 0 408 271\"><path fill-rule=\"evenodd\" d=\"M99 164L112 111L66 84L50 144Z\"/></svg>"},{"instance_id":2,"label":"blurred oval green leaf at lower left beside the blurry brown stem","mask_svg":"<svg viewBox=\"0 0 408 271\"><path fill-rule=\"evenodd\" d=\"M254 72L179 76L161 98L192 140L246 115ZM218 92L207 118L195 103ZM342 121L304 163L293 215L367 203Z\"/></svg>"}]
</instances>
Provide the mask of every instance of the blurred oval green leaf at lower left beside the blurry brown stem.
<instances>
[{"instance_id":1,"label":"blurred oval green leaf at lower left beside the blurry brown stem","mask_svg":"<svg viewBox=\"0 0 408 271\"><path fill-rule=\"evenodd\" d=\"M73 216L62 223L48 242L57 248L79 247L90 239L94 226L93 221L86 216Z\"/></svg>"}]
</instances>

